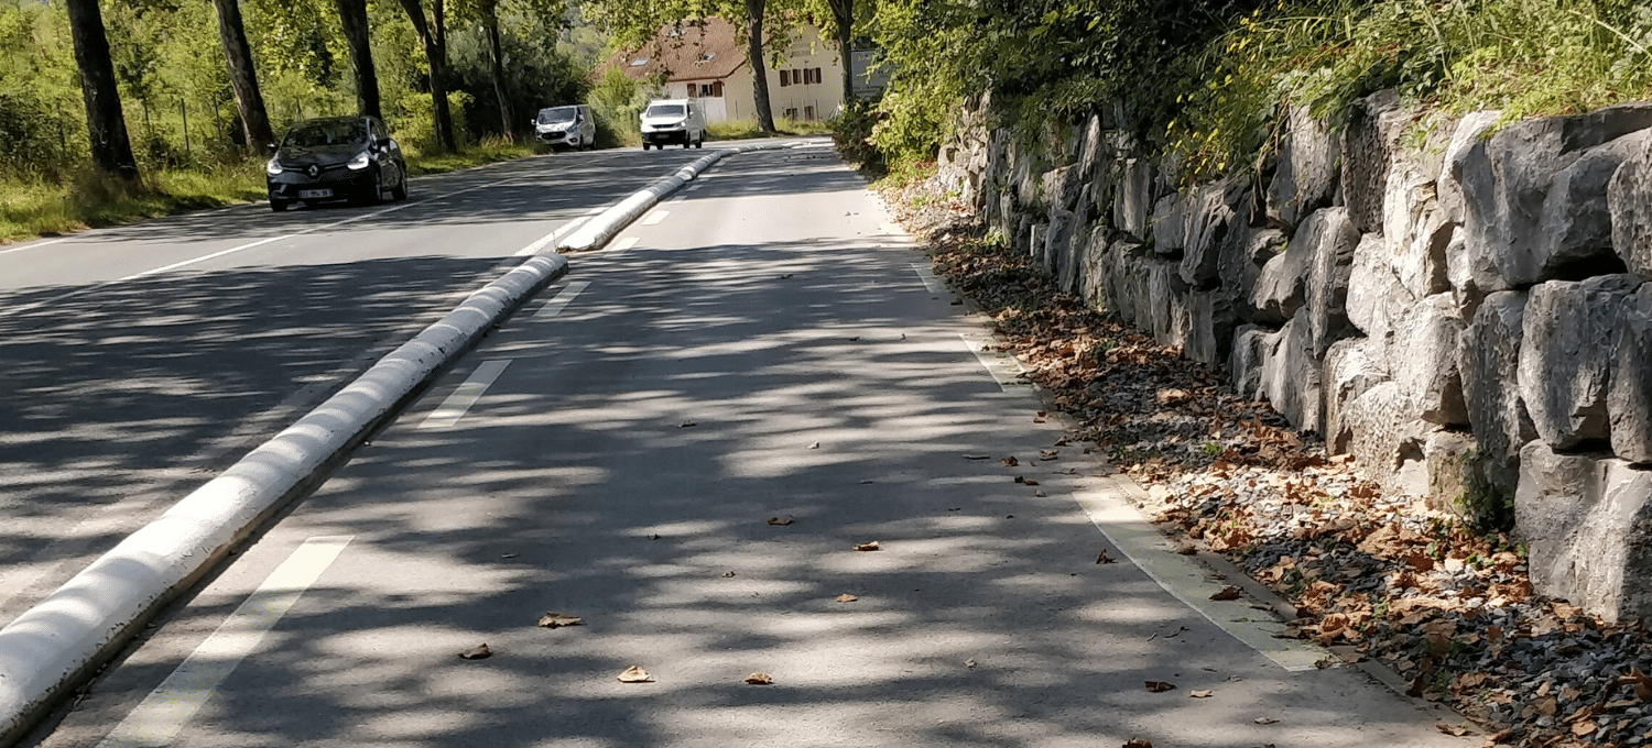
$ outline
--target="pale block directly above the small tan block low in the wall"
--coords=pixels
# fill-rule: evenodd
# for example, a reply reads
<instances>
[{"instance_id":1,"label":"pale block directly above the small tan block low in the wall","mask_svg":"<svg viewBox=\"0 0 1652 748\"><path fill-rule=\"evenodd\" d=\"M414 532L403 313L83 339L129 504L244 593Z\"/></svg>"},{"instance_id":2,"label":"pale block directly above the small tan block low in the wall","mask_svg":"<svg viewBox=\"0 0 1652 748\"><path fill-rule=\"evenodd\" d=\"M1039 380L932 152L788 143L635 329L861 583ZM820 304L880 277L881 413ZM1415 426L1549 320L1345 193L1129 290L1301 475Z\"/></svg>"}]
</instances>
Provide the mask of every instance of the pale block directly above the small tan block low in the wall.
<instances>
[{"instance_id":1,"label":"pale block directly above the small tan block low in the wall","mask_svg":"<svg viewBox=\"0 0 1652 748\"><path fill-rule=\"evenodd\" d=\"M1462 330L1464 322L1450 294L1419 301L1394 329L1388 370L1411 396L1412 411L1422 421L1441 426L1469 424L1457 370Z\"/></svg>"}]
</instances>

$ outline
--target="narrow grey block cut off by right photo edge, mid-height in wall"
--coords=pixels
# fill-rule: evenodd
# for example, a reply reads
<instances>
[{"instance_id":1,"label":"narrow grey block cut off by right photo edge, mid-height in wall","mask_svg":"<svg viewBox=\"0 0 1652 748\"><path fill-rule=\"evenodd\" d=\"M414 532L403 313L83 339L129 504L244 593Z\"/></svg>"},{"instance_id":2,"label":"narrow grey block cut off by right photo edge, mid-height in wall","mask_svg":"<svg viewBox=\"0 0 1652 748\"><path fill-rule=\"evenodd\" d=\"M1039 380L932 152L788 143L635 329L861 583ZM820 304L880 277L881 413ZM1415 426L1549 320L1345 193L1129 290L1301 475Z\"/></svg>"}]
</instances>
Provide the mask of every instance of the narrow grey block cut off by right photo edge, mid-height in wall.
<instances>
[{"instance_id":1,"label":"narrow grey block cut off by right photo edge, mid-height in wall","mask_svg":"<svg viewBox=\"0 0 1652 748\"><path fill-rule=\"evenodd\" d=\"M1640 284L1624 304L1606 391L1612 452L1652 462L1652 284Z\"/></svg>"}]
</instances>

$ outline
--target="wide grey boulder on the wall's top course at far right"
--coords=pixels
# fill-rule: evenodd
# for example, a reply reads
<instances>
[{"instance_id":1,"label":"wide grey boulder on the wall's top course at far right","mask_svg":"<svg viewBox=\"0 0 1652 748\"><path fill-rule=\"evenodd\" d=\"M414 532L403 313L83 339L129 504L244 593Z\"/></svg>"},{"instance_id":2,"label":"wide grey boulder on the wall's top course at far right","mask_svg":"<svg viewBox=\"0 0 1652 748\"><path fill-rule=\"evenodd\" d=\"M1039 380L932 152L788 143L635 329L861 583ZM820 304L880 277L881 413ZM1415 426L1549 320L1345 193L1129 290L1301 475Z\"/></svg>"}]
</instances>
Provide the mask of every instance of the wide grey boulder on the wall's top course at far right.
<instances>
[{"instance_id":1,"label":"wide grey boulder on the wall's top course at far right","mask_svg":"<svg viewBox=\"0 0 1652 748\"><path fill-rule=\"evenodd\" d=\"M1469 147L1452 163L1469 251L1515 287L1617 264L1601 239L1606 185L1639 137L1614 140L1649 125L1652 104L1626 104L1520 122Z\"/></svg>"}]
</instances>

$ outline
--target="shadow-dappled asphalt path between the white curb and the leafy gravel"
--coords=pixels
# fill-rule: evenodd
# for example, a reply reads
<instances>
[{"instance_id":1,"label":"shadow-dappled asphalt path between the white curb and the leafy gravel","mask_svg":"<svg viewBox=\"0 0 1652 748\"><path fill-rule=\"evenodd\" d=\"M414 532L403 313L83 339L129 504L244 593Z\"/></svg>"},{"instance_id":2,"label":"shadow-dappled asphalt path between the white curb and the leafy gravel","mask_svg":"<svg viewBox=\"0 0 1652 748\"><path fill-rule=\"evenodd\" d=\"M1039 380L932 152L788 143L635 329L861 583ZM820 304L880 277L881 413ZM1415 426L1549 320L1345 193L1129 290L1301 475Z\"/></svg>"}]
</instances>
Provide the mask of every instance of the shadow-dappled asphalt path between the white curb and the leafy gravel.
<instances>
[{"instance_id":1,"label":"shadow-dappled asphalt path between the white curb and the leafy gravel","mask_svg":"<svg viewBox=\"0 0 1652 748\"><path fill-rule=\"evenodd\" d=\"M829 152L679 196L575 256L38 745L1469 745L1095 563L1097 466Z\"/></svg>"}]
</instances>

